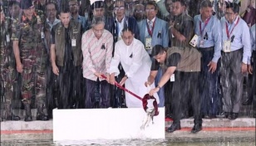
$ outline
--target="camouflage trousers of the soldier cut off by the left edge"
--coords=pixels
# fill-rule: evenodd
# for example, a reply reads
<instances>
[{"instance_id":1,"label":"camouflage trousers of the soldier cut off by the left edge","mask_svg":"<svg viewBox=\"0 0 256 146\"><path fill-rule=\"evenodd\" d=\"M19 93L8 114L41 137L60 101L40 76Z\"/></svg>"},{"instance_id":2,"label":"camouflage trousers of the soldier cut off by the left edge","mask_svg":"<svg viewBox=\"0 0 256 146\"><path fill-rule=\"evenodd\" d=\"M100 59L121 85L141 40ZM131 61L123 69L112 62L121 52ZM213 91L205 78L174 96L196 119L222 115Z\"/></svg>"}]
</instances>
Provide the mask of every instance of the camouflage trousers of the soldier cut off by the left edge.
<instances>
[{"instance_id":1,"label":"camouflage trousers of the soldier cut off by the left edge","mask_svg":"<svg viewBox=\"0 0 256 146\"><path fill-rule=\"evenodd\" d=\"M17 82L17 71L12 47L1 47L0 51L0 82L1 101L11 105L13 99L13 85Z\"/></svg>"}]
</instances>

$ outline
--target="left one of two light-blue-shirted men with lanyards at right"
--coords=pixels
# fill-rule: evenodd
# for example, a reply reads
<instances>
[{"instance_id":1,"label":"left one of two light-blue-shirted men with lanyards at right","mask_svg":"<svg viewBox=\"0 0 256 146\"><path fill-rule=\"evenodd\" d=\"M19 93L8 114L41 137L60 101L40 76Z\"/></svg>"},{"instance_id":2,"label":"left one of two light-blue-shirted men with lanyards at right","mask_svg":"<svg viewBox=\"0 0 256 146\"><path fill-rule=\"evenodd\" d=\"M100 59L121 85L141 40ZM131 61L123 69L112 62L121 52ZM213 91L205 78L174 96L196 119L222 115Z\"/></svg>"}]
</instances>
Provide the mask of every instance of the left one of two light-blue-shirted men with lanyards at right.
<instances>
[{"instance_id":1,"label":"left one of two light-blue-shirted men with lanyards at right","mask_svg":"<svg viewBox=\"0 0 256 146\"><path fill-rule=\"evenodd\" d=\"M212 15L213 6L209 0L200 4L200 13L194 17L194 33L199 36L197 48L202 53L199 93L204 118L214 118L219 112L218 61L221 56L221 25Z\"/></svg>"}]
</instances>

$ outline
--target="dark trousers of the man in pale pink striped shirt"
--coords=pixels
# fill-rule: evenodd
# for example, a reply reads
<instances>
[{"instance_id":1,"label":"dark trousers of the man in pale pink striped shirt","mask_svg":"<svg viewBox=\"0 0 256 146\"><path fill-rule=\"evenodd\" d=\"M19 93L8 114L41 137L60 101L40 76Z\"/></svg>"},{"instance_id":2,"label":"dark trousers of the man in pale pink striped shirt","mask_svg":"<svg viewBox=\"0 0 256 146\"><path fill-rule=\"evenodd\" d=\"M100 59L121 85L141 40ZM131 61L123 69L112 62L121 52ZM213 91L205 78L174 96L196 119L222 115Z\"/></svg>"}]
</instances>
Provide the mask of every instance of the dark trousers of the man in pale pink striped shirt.
<instances>
[{"instance_id":1,"label":"dark trousers of the man in pale pink striped shirt","mask_svg":"<svg viewBox=\"0 0 256 146\"><path fill-rule=\"evenodd\" d=\"M84 82L86 83L86 109L96 108L96 81L89 80L84 78ZM110 84L106 80L100 81L100 102L99 108L109 108L111 105L110 102Z\"/></svg>"}]
</instances>

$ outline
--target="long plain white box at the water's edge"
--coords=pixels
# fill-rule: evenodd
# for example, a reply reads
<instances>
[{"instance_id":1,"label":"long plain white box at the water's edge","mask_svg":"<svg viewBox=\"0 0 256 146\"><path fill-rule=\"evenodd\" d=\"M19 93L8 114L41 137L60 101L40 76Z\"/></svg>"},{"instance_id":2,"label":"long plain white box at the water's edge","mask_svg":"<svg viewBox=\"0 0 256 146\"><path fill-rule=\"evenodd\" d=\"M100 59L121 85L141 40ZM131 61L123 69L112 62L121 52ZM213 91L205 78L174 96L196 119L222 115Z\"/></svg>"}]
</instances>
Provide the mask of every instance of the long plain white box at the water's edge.
<instances>
[{"instance_id":1,"label":"long plain white box at the water's edge","mask_svg":"<svg viewBox=\"0 0 256 146\"><path fill-rule=\"evenodd\" d=\"M159 111L143 130L142 108L53 110L53 140L165 139L165 108Z\"/></svg>"}]
</instances>

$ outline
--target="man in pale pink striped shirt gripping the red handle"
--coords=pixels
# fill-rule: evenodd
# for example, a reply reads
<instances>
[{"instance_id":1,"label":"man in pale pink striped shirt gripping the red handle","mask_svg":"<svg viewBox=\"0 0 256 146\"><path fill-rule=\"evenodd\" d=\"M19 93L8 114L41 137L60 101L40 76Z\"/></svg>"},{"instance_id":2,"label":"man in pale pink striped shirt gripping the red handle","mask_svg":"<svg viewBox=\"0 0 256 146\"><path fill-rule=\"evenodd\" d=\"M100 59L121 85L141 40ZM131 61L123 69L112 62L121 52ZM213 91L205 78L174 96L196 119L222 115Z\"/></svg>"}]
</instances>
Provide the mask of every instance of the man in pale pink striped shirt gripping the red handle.
<instances>
[{"instance_id":1,"label":"man in pale pink striped shirt gripping the red handle","mask_svg":"<svg viewBox=\"0 0 256 146\"><path fill-rule=\"evenodd\" d=\"M94 17L91 29L81 38L83 55L82 70L85 82L86 108L109 108L111 106L109 70L113 51L113 36L104 29L104 18ZM103 79L101 75L106 75Z\"/></svg>"}]
</instances>

